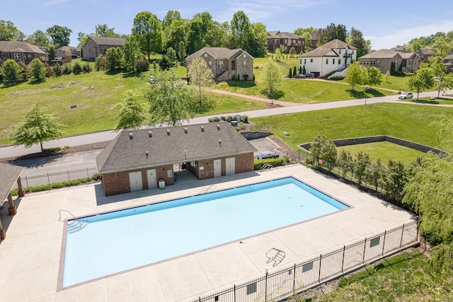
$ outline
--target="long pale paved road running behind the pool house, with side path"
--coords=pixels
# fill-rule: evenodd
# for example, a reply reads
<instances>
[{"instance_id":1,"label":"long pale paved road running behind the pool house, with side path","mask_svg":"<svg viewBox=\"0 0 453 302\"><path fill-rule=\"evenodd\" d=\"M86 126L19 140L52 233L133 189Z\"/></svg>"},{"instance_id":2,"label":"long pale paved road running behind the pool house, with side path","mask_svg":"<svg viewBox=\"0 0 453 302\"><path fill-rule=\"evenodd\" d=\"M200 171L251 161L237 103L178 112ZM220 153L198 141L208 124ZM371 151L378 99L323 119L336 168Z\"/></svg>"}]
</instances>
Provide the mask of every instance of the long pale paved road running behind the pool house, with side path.
<instances>
[{"instance_id":1,"label":"long pale paved road running behind the pool house, with side path","mask_svg":"<svg viewBox=\"0 0 453 302\"><path fill-rule=\"evenodd\" d=\"M222 93L227 93L222 91ZM232 94L232 93L227 93ZM272 102L272 100L257 98L251 95L239 95L238 93L234 93L233 95L241 96L242 98L253 98L255 100L261 100L266 102ZM420 93L420 98L422 97L429 97L429 96L437 96L437 91L430 91L426 93ZM367 104L374 104L374 103L383 103L383 102L398 102L396 95L388 95L378 98L362 98L362 99L353 99L353 100L338 100L334 102L327 102L327 103L316 103L316 104L297 104L291 106L279 106L275 108L266 108L260 110L250 110L250 111L242 111L242 112L233 112L231 114L239 114L239 115L247 115L248 117L265 117L271 115L287 115L290 113L296 112L308 112L314 110L325 110L331 108L342 108L342 107L349 107L349 106L357 106L357 105L365 105ZM283 103L283 102L278 102ZM402 102L406 103L406 102ZM294 103L292 103L294 104ZM414 103L407 103L407 104L414 104ZM429 105L429 104L421 104L420 105ZM439 106L439 105L436 105ZM224 115L224 114L222 114ZM200 124L208 122L210 117L217 117L219 115L209 115L204 117L194 117L190 120L191 124ZM91 134L84 134L79 135L76 137L64 137L58 140L46 141L44 146L45 148L56 148L62 146L81 146L84 144L93 144L100 141L111 141L115 139L117 136L117 132L113 131L104 131L104 132L96 132ZM30 153L38 153L40 152L40 147L38 145L33 145L32 147L25 149L24 146L6 146L0 148L0 158L10 158L15 156L23 156L25 154Z\"/></svg>"}]
</instances>

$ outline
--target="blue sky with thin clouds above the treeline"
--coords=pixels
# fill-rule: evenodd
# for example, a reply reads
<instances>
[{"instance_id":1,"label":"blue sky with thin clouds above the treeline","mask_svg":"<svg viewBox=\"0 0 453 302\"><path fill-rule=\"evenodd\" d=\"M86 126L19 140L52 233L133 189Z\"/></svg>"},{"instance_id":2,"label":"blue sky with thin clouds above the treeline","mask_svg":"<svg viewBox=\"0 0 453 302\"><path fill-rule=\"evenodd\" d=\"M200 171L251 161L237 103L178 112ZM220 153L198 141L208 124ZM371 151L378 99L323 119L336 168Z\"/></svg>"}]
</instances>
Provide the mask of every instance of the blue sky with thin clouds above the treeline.
<instances>
[{"instance_id":1,"label":"blue sky with thin clouds above the treeline","mask_svg":"<svg viewBox=\"0 0 453 302\"><path fill-rule=\"evenodd\" d=\"M140 11L150 11L162 20L170 10L179 11L186 19L207 11L219 23L229 22L234 13L243 11L251 23L263 23L268 31L290 33L297 28L342 24L347 30L360 30L371 40L372 50L453 30L451 0L23 0L2 4L0 20L11 21L25 35L45 32L53 25L65 26L72 30L69 45L77 46L77 33L94 33L98 24L127 35Z\"/></svg>"}]
</instances>

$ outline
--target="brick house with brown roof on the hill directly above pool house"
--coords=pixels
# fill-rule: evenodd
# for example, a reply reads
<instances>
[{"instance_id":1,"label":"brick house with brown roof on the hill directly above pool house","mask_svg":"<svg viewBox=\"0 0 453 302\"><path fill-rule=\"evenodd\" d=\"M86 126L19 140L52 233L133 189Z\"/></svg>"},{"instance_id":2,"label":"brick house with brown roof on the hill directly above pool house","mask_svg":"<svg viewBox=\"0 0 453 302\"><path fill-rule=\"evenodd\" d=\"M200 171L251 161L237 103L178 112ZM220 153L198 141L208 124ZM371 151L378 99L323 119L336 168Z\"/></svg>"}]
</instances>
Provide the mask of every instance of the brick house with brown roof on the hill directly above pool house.
<instances>
[{"instance_id":1,"label":"brick house with brown roof on the hill directly above pool house","mask_svg":"<svg viewBox=\"0 0 453 302\"><path fill-rule=\"evenodd\" d=\"M203 47L185 58L185 66L189 68L190 62L198 57L205 59L214 74L214 81L228 81L233 77L253 79L253 57L240 48L229 50L226 47Z\"/></svg>"}]
</instances>

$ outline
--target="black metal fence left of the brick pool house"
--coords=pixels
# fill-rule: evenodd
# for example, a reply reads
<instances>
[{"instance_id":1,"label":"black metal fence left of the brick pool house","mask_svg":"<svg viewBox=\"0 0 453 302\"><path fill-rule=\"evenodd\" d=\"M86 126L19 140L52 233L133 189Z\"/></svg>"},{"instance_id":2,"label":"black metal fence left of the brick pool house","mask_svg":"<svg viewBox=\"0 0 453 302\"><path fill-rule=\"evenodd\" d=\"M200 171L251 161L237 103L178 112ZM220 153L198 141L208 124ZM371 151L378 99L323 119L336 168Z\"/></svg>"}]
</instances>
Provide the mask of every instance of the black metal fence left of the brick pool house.
<instances>
[{"instance_id":1,"label":"black metal fence left of the brick pool house","mask_svg":"<svg viewBox=\"0 0 453 302\"><path fill-rule=\"evenodd\" d=\"M40 185L48 185L50 188L51 185L56 182L69 182L71 180L78 180L81 178L91 178L95 173L98 173L96 168L86 168L35 176L21 176L21 180L23 189L29 190L30 187L38 187ZM13 190L17 188L16 182Z\"/></svg>"}]
</instances>

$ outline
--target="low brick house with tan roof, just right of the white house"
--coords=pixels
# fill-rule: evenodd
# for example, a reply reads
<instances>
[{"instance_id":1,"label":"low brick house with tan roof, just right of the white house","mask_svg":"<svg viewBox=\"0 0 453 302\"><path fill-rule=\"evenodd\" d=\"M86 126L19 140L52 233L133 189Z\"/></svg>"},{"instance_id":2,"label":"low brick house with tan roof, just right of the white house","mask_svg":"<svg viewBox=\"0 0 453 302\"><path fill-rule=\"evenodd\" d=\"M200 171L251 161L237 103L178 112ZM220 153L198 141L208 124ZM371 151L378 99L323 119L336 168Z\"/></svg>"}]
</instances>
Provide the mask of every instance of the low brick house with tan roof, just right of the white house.
<instances>
[{"instance_id":1,"label":"low brick house with tan roof, just right of the white house","mask_svg":"<svg viewBox=\"0 0 453 302\"><path fill-rule=\"evenodd\" d=\"M377 50L358 58L360 65L365 67L377 67L382 73L391 69L391 63L395 63L395 70L400 68L403 72L415 72L418 70L420 57L415 52L397 52L395 50Z\"/></svg>"}]
</instances>

